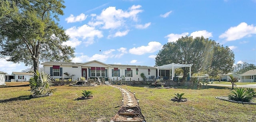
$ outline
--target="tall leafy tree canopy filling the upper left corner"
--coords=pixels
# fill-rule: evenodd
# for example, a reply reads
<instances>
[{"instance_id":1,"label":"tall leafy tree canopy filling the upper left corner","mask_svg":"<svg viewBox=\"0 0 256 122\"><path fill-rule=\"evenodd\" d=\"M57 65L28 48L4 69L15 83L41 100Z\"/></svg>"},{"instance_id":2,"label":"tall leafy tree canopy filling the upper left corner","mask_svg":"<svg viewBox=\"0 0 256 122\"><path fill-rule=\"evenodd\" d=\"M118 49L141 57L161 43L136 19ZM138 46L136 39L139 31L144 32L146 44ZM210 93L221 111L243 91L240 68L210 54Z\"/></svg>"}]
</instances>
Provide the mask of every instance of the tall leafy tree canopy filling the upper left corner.
<instances>
[{"instance_id":1,"label":"tall leafy tree canopy filling the upper left corner","mask_svg":"<svg viewBox=\"0 0 256 122\"><path fill-rule=\"evenodd\" d=\"M70 61L74 48L58 25L63 0L1 0L0 56L38 70L40 61Z\"/></svg>"}]
</instances>

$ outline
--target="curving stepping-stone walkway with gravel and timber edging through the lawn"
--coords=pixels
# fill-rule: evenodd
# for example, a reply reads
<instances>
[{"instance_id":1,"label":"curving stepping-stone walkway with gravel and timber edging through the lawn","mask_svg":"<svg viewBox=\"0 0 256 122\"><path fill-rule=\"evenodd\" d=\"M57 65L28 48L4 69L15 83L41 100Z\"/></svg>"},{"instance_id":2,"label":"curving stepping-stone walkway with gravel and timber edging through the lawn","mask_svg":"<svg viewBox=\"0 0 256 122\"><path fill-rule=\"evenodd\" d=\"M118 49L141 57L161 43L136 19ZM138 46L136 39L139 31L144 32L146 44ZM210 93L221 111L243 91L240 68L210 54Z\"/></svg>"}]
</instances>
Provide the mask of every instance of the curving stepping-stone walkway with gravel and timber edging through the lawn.
<instances>
[{"instance_id":1,"label":"curving stepping-stone walkway with gravel and timber edging through the lawn","mask_svg":"<svg viewBox=\"0 0 256 122\"><path fill-rule=\"evenodd\" d=\"M134 93L127 89L127 87L126 89L124 89L121 87L116 87L114 85L109 86L117 88L121 91L123 96L121 109L123 108L124 110L126 110L126 113L117 113L114 117L111 118L110 122L146 122L144 120L144 116L141 115L141 111L139 113L140 115L138 115L138 113L129 114L133 113L135 108L140 110L139 104Z\"/></svg>"}]
</instances>

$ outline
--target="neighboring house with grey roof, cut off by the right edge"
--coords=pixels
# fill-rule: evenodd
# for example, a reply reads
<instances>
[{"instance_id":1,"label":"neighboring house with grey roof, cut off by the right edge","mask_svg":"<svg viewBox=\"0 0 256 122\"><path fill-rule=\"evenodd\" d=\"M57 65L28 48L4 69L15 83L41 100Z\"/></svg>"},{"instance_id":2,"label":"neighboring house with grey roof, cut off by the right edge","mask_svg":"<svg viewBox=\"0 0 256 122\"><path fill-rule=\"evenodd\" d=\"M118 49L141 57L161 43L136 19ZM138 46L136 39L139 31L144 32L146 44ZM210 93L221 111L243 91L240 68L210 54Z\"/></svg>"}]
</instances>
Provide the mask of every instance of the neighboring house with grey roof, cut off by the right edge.
<instances>
[{"instance_id":1,"label":"neighboring house with grey roof, cut off by the right edge","mask_svg":"<svg viewBox=\"0 0 256 122\"><path fill-rule=\"evenodd\" d=\"M238 82L256 82L256 69L249 70L240 75Z\"/></svg>"}]
</instances>

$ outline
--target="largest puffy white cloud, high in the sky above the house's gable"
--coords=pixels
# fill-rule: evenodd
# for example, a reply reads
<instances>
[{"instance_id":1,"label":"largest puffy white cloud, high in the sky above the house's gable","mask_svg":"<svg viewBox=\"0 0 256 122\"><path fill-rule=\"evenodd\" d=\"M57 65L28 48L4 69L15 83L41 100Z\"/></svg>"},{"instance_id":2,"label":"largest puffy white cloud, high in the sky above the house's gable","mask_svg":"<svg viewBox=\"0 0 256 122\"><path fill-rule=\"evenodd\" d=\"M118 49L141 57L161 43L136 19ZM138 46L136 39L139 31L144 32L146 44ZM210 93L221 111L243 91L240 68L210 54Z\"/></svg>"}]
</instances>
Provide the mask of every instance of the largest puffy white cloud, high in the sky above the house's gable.
<instances>
[{"instance_id":1,"label":"largest puffy white cloud, high in the sky above the house's gable","mask_svg":"<svg viewBox=\"0 0 256 122\"><path fill-rule=\"evenodd\" d=\"M140 5L133 5L129 8L129 11L124 11L121 9L116 10L116 7L108 7L102 10L99 16L96 16L88 24L90 26L102 26L102 29L116 29L118 27L124 26L126 19L132 19L133 21L138 20L138 13L142 12L140 10Z\"/></svg>"}]
</instances>

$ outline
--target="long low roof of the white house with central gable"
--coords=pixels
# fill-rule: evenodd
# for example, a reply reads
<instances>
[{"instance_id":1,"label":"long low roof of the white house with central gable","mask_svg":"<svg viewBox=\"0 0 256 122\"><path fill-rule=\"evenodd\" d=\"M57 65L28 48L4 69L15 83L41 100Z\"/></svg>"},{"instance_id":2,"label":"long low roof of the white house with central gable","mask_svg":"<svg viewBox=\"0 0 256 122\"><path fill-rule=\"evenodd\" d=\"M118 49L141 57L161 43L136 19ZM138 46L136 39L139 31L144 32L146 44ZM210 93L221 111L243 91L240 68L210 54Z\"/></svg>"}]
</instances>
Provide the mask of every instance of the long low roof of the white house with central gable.
<instances>
[{"instance_id":1,"label":"long low roof of the white house with central gable","mask_svg":"<svg viewBox=\"0 0 256 122\"><path fill-rule=\"evenodd\" d=\"M84 65L84 64L87 64L87 63L91 63L91 62L98 62L98 63L102 63L100 61L96 61L96 60L93 60L93 61L89 61L89 62L86 62L86 63L73 63L73 62L53 62L53 61L49 61L49 62L44 62L44 63L41 63L41 65L65 65L65 66L79 66L79 65ZM109 67L133 67L133 68L136 68L136 67L139 67L139 68L145 68L145 69L156 69L156 67L148 67L148 66L140 66L140 65L117 65L117 64L105 64L105 63L102 63L104 65L108 65Z\"/></svg>"}]
</instances>

